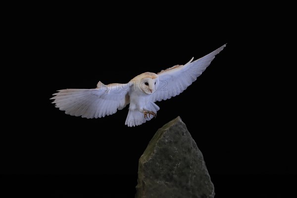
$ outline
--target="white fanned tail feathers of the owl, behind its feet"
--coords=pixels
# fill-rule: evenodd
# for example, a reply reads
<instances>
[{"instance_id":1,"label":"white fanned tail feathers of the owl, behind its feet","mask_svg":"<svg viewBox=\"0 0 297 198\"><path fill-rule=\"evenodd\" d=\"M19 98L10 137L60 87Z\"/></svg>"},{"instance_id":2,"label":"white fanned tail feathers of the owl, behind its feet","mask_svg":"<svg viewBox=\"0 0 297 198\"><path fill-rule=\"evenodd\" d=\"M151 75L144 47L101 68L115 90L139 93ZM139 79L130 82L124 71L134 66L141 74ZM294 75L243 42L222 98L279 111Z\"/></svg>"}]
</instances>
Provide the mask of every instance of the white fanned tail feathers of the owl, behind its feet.
<instances>
[{"instance_id":1,"label":"white fanned tail feathers of the owl, behind its feet","mask_svg":"<svg viewBox=\"0 0 297 198\"><path fill-rule=\"evenodd\" d=\"M157 113L157 111L160 108L155 103L149 101L145 109L148 111ZM137 109L129 109L125 125L128 125L128 127L135 127L138 125L142 125L143 123L146 123L147 121L151 120L152 118L153 118L152 115L150 115L150 117L148 117L148 118L145 118L144 113L140 112Z\"/></svg>"}]
</instances>

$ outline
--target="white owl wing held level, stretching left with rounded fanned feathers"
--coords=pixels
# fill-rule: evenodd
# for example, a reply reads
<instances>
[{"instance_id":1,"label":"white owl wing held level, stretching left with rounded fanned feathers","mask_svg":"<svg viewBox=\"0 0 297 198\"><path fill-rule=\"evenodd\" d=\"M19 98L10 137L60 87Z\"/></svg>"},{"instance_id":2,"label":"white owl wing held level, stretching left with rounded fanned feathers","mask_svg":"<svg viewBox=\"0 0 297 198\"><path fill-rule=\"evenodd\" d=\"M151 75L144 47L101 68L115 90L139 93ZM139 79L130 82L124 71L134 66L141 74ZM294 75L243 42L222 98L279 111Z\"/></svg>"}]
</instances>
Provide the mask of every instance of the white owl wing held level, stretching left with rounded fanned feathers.
<instances>
[{"instance_id":1,"label":"white owl wing held level, stretching left with rounded fanned feathers","mask_svg":"<svg viewBox=\"0 0 297 198\"><path fill-rule=\"evenodd\" d=\"M111 115L129 103L128 91L133 83L98 83L96 89L65 89L53 94L52 103L66 114L86 118Z\"/></svg>"}]
</instances>

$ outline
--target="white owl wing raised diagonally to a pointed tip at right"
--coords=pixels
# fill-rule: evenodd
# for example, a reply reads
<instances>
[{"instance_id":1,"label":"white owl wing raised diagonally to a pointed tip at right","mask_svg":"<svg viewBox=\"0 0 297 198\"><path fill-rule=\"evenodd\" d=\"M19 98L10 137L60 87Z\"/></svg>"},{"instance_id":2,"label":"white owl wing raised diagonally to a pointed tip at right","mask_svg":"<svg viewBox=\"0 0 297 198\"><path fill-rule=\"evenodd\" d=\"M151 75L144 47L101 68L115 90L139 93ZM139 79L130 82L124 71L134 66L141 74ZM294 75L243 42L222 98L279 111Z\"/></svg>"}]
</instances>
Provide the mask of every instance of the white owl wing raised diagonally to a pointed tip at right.
<instances>
[{"instance_id":1,"label":"white owl wing raised diagonally to a pointed tip at right","mask_svg":"<svg viewBox=\"0 0 297 198\"><path fill-rule=\"evenodd\" d=\"M193 58L185 65L176 65L158 73L158 87L154 94L151 95L151 101L161 101L170 99L182 93L187 89L201 73L206 69L210 62L226 46L199 58L192 62Z\"/></svg>"}]
</instances>

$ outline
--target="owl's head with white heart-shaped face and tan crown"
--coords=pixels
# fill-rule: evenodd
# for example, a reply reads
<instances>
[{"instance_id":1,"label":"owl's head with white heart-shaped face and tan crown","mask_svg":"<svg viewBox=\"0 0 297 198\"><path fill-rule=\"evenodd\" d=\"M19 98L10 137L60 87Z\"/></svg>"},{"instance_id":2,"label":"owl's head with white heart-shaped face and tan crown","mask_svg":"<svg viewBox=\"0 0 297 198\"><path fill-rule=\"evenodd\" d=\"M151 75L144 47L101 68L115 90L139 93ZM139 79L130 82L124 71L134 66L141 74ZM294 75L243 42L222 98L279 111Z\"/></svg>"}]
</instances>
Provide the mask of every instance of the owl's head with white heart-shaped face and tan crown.
<instances>
[{"instance_id":1,"label":"owl's head with white heart-shaped face and tan crown","mask_svg":"<svg viewBox=\"0 0 297 198\"><path fill-rule=\"evenodd\" d=\"M139 76L138 86L142 92L145 94L153 94L158 85L158 75L151 72L143 73Z\"/></svg>"}]
</instances>

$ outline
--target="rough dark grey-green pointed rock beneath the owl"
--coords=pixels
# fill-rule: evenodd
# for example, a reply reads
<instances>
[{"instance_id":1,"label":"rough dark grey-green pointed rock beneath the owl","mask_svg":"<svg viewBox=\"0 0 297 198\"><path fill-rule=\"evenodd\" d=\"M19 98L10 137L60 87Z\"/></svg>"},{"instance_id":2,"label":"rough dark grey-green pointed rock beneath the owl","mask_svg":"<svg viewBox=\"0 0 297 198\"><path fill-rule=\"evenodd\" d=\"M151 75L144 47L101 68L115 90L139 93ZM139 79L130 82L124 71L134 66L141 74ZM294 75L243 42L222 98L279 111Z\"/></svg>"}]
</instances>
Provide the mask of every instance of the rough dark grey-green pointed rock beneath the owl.
<instances>
[{"instance_id":1,"label":"rough dark grey-green pointed rock beneath the owl","mask_svg":"<svg viewBox=\"0 0 297 198\"><path fill-rule=\"evenodd\" d=\"M214 187L180 117L165 124L139 159L135 198L213 198Z\"/></svg>"}]
</instances>

